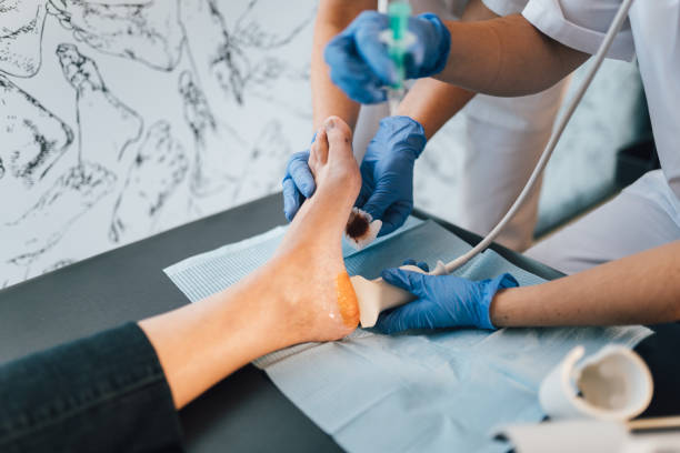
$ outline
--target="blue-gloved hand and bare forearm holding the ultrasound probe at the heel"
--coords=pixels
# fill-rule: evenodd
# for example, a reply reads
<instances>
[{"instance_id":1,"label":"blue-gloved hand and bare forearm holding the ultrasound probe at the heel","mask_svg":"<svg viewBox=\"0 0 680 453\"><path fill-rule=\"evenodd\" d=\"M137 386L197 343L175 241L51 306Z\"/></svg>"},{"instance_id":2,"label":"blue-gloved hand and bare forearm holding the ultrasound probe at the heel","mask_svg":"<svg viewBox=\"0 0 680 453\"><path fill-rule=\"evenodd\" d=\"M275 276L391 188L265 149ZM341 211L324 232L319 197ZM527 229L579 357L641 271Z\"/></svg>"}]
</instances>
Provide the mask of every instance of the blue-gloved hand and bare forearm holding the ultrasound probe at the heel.
<instances>
[{"instance_id":1,"label":"blue-gloved hand and bare forearm holding the ultrasound probe at the heel","mask_svg":"<svg viewBox=\"0 0 680 453\"><path fill-rule=\"evenodd\" d=\"M380 315L386 333L680 321L680 241L533 286L518 288L508 273L470 281L388 269L382 278L417 296Z\"/></svg>"}]
</instances>

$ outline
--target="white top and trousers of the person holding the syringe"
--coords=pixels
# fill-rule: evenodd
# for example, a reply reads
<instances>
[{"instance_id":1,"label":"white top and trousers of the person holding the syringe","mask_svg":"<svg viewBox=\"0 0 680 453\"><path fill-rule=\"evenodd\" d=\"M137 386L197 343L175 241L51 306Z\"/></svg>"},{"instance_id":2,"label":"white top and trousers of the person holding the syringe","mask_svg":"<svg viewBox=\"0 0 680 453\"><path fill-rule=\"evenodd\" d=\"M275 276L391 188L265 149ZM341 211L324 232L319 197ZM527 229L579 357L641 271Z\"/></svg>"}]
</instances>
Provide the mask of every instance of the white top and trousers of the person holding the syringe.
<instances>
[{"instance_id":1,"label":"white top and trousers of the person holding the syringe","mask_svg":"<svg viewBox=\"0 0 680 453\"><path fill-rule=\"evenodd\" d=\"M594 53L621 0L530 0L522 14L549 37ZM680 239L680 0L636 0L610 58L638 58L662 170L530 249L566 273Z\"/></svg>"}]
</instances>

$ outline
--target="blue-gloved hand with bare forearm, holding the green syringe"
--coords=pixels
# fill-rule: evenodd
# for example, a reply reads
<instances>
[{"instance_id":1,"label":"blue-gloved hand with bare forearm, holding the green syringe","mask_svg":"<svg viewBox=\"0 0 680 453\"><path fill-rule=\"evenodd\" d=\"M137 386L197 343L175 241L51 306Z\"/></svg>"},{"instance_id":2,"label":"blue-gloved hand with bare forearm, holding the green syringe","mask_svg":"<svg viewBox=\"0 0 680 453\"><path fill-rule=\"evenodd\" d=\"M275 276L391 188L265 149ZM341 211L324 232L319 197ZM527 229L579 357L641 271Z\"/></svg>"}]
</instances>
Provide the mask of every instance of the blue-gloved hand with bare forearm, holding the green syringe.
<instances>
[{"instance_id":1,"label":"blue-gloved hand with bare forearm, holding the green syringe","mask_svg":"<svg viewBox=\"0 0 680 453\"><path fill-rule=\"evenodd\" d=\"M380 34L384 14L363 12L326 49L331 79L352 99L384 99L377 88L396 82ZM434 14L409 18L416 42L404 60L406 77L436 79L499 97L532 94L553 85L588 58L543 34L521 14L477 22L442 21ZM351 39L352 47L347 46ZM348 70L348 66L362 68Z\"/></svg>"}]
</instances>

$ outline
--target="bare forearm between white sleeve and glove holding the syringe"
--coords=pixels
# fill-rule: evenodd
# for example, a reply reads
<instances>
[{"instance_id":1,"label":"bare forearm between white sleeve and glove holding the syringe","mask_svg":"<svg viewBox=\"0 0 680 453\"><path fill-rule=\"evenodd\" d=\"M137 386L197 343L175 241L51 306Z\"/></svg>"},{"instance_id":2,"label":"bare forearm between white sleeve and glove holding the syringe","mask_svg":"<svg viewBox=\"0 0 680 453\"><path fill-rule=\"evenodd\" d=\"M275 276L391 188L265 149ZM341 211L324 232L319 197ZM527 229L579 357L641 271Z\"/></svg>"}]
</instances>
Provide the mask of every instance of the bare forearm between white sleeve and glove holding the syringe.
<instances>
[{"instance_id":1,"label":"bare forearm between white sleeve and glove holding the syringe","mask_svg":"<svg viewBox=\"0 0 680 453\"><path fill-rule=\"evenodd\" d=\"M541 33L521 14L444 23L451 50L446 68L436 78L487 94L543 91L590 57Z\"/></svg>"}]
</instances>

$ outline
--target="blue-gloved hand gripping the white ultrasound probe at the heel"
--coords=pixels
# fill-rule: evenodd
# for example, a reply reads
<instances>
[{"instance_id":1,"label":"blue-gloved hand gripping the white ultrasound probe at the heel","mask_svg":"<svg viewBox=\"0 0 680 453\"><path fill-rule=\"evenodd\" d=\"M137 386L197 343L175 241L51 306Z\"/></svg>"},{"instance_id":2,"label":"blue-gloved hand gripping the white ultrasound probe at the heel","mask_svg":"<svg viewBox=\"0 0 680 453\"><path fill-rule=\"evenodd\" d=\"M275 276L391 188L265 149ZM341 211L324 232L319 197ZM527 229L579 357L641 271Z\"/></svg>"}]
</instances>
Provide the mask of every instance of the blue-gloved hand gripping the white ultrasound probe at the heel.
<instances>
[{"instance_id":1,"label":"blue-gloved hand gripping the white ultrasound probe at the heel","mask_svg":"<svg viewBox=\"0 0 680 453\"><path fill-rule=\"evenodd\" d=\"M427 271L427 266L420 263L418 266ZM427 275L387 269L382 271L382 279L418 296L413 302L380 315L376 328L383 333L459 325L496 330L489 318L493 295L501 289L519 285L509 273L473 282L456 275Z\"/></svg>"}]
</instances>

